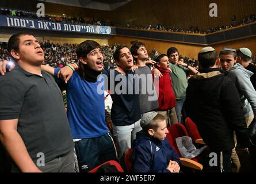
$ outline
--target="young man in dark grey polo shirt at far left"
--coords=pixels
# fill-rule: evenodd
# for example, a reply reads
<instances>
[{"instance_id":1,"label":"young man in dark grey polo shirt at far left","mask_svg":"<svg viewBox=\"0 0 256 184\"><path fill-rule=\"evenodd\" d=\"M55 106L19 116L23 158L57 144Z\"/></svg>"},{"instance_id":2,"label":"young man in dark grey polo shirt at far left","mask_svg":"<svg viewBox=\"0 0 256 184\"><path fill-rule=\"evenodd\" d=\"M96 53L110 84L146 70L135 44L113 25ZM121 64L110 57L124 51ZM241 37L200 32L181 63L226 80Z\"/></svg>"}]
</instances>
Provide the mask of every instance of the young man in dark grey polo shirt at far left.
<instances>
[{"instance_id":1,"label":"young man in dark grey polo shirt at far left","mask_svg":"<svg viewBox=\"0 0 256 184\"><path fill-rule=\"evenodd\" d=\"M41 71L44 52L28 33L10 37L13 72L0 77L0 140L12 171L74 172L74 143L55 79Z\"/></svg>"}]
</instances>

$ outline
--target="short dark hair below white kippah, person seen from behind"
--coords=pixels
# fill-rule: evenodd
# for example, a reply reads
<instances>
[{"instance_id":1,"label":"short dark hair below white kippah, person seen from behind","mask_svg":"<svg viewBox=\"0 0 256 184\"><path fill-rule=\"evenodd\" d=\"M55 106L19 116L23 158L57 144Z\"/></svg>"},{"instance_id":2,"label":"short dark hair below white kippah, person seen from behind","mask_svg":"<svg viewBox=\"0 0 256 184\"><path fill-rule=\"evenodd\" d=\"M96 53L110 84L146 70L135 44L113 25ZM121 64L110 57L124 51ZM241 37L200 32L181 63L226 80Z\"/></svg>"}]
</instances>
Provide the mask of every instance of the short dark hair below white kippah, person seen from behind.
<instances>
[{"instance_id":1,"label":"short dark hair below white kippah, person seen from behind","mask_svg":"<svg viewBox=\"0 0 256 184\"><path fill-rule=\"evenodd\" d=\"M218 54L216 51L198 53L198 63L202 68L209 68L215 65Z\"/></svg>"}]
</instances>

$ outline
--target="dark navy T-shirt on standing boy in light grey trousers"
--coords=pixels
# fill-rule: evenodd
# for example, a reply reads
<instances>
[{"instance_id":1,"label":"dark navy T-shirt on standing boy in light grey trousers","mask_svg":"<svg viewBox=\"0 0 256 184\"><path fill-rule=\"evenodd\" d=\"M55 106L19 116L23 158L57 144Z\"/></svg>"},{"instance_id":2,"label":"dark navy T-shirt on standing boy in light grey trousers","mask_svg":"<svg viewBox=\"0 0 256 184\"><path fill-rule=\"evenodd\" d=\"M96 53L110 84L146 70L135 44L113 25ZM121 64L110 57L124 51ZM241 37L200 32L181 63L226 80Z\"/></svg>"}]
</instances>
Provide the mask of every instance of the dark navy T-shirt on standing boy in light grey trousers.
<instances>
[{"instance_id":1,"label":"dark navy T-shirt on standing boy in light grey trousers","mask_svg":"<svg viewBox=\"0 0 256 184\"><path fill-rule=\"evenodd\" d=\"M139 88L136 91L136 75L132 71L126 71L126 75L121 75L116 70L103 70L105 78L105 90L110 90L113 101L111 109L111 119L116 126L127 126L140 119L140 95ZM117 78L116 76L123 78ZM124 89L123 89L124 87ZM121 90L121 94L119 94ZM124 94L125 93L125 94Z\"/></svg>"}]
</instances>

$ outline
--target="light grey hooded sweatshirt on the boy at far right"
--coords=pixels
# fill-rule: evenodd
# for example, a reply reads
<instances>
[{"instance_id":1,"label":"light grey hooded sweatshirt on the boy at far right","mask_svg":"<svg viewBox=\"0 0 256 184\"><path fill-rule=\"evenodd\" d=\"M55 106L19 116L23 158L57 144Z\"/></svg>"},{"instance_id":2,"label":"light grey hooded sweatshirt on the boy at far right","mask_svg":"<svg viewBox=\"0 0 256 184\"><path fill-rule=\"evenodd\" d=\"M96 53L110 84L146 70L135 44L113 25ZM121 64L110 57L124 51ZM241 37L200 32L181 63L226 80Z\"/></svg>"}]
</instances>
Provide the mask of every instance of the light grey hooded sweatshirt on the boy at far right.
<instances>
[{"instance_id":1,"label":"light grey hooded sweatshirt on the boy at far right","mask_svg":"<svg viewBox=\"0 0 256 184\"><path fill-rule=\"evenodd\" d=\"M243 105L244 117L256 114L256 91L250 81L253 72L246 70L239 63L235 64L227 76L235 82Z\"/></svg>"}]
</instances>

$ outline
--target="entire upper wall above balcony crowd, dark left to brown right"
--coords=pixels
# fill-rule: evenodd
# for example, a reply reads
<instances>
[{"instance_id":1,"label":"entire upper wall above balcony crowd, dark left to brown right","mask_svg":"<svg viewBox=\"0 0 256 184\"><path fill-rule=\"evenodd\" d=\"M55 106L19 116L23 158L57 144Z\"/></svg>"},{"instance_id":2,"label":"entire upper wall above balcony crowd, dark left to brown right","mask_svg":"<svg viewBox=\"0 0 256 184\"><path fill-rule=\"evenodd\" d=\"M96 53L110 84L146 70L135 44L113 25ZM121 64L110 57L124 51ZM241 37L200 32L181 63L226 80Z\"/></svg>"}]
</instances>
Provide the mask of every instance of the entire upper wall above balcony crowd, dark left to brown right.
<instances>
[{"instance_id":1,"label":"entire upper wall above balcony crowd, dark left to brown right","mask_svg":"<svg viewBox=\"0 0 256 184\"><path fill-rule=\"evenodd\" d=\"M217 17L210 17L209 5L217 4ZM25 9L36 12L38 1L23 0L0 1L0 6ZM231 24L231 17L236 21L243 20L244 14L256 14L256 1L244 0L133 0L113 11L84 9L74 6L45 3L47 14L76 16L83 18L100 18L126 25L129 22L138 25L163 24L166 28L188 29L191 26L199 29L220 27Z\"/></svg>"}]
</instances>

